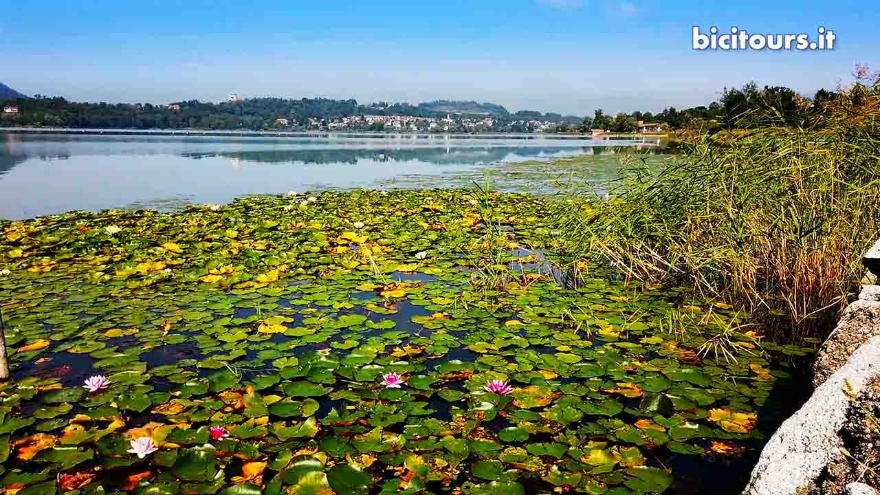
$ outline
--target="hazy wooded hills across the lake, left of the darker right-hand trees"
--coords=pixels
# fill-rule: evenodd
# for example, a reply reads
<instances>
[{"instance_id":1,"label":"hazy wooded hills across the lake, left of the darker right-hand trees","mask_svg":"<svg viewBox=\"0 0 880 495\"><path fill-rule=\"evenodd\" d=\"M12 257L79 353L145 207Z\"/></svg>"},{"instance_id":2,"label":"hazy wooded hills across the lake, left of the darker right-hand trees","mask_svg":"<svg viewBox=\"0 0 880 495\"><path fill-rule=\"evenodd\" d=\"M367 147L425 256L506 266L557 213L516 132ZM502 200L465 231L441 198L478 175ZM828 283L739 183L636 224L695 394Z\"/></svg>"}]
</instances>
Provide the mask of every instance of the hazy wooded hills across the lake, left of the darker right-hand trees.
<instances>
[{"instance_id":1,"label":"hazy wooded hills across the lake, left of the darker right-hand trees","mask_svg":"<svg viewBox=\"0 0 880 495\"><path fill-rule=\"evenodd\" d=\"M5 86L4 86L5 88ZM11 91L11 90L8 90ZM15 92L15 94L19 94ZM2 98L2 97L0 97ZM8 101L8 100L7 100ZM442 119L451 114L453 121L449 131L470 132L491 128L494 132L528 132L534 128L551 129L554 126L535 126L531 121L580 123L577 117L561 114L521 110L510 114L506 108L492 103L473 101L438 100L418 106L409 103L388 103L379 101L370 105L359 105L356 100L330 100L326 98L303 98L289 100L282 98L246 98L234 103L223 101L207 103L198 100L176 101L168 104L151 103L77 103L62 97L42 97L39 94L19 105L18 125L53 125L56 127L105 128L105 129L277 129L293 127L279 126L283 117L298 128L334 129L350 117L363 115L383 115L399 117L422 117L423 119ZM432 109L433 108L433 109ZM443 110L437 110L443 108ZM495 122L477 122L485 118ZM372 120L372 119L370 119ZM383 119L384 120L384 119ZM421 119L416 128L436 130L435 125ZM335 122L334 122L335 121ZM343 125L343 128L361 130L385 130L383 122L359 120L359 124ZM397 120L397 122L401 122ZM351 122L348 122L351 123ZM331 127L330 124L336 124ZM363 124L363 125L362 125ZM376 125L380 124L380 125ZM407 130L412 129L412 125ZM445 128L446 125L443 125ZM401 130L400 126L393 128Z\"/></svg>"}]
</instances>

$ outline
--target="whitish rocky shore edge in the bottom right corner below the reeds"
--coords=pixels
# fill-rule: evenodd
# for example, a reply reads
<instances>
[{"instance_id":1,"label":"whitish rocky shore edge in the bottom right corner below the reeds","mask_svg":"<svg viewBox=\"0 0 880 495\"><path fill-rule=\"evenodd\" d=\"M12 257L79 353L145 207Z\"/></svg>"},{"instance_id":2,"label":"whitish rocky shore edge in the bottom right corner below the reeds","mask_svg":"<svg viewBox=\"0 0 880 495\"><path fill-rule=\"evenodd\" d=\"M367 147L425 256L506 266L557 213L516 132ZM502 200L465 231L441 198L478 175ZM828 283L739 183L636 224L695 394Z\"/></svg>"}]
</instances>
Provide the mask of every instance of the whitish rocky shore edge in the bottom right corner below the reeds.
<instances>
[{"instance_id":1,"label":"whitish rocky shore edge in the bottom right corner below the reeds","mask_svg":"<svg viewBox=\"0 0 880 495\"><path fill-rule=\"evenodd\" d=\"M813 394L774 433L744 495L880 495L880 240L818 351Z\"/></svg>"}]
</instances>

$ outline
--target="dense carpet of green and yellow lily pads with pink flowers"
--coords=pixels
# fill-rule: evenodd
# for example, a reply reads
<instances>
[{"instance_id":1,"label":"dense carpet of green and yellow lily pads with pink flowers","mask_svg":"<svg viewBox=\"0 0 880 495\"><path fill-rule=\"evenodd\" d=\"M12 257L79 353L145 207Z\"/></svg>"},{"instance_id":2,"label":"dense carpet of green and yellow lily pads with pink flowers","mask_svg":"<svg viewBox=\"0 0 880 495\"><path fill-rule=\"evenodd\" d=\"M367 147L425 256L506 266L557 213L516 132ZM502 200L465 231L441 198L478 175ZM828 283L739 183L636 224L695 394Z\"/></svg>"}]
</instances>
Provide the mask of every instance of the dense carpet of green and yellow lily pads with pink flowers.
<instances>
[{"instance_id":1,"label":"dense carpet of green and yellow lily pads with pink flowers","mask_svg":"<svg viewBox=\"0 0 880 495\"><path fill-rule=\"evenodd\" d=\"M809 352L683 290L562 286L547 199L302 197L0 223L0 485L663 492L754 455ZM472 284L486 263L503 284ZM736 359L700 352L722 328Z\"/></svg>"}]
</instances>

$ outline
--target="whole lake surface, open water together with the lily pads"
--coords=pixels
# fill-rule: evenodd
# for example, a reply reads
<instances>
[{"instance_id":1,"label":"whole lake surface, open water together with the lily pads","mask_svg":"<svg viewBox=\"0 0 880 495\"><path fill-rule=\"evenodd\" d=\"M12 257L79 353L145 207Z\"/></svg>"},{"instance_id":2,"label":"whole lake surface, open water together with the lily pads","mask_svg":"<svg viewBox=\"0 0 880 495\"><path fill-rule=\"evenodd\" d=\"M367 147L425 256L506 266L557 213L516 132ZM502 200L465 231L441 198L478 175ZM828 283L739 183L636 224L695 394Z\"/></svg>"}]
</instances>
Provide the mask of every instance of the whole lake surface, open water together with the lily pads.
<instances>
[{"instance_id":1,"label":"whole lake surface, open water together with the lily pads","mask_svg":"<svg viewBox=\"0 0 880 495\"><path fill-rule=\"evenodd\" d=\"M3 139L2 486L734 495L804 400L810 348L554 251L656 145Z\"/></svg>"}]
</instances>

